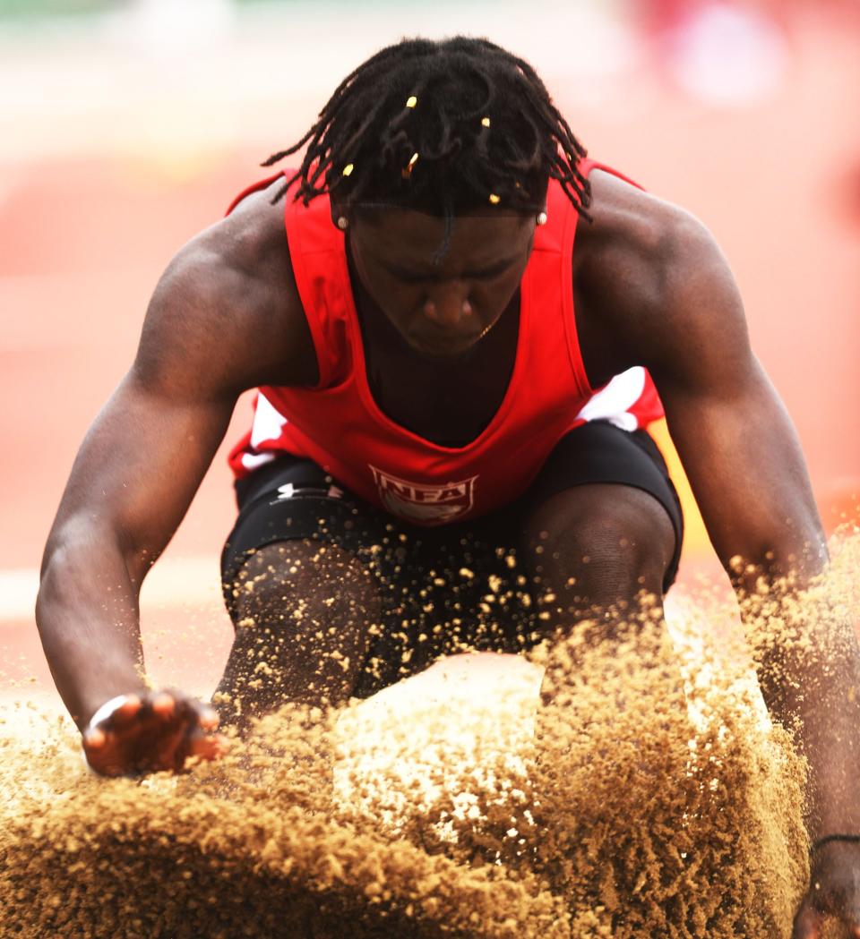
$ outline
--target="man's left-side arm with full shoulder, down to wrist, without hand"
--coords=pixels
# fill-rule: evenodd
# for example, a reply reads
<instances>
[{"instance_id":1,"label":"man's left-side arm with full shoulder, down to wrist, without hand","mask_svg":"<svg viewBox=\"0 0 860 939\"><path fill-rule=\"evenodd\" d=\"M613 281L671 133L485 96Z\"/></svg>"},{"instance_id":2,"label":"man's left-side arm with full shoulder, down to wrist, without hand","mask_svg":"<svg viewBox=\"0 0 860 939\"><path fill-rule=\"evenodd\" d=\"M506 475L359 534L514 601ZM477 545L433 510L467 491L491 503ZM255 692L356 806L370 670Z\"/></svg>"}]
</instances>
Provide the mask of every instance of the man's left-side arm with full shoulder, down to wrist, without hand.
<instances>
[{"instance_id":1,"label":"man's left-side arm with full shoulder, down to wrist, without hand","mask_svg":"<svg viewBox=\"0 0 860 939\"><path fill-rule=\"evenodd\" d=\"M308 372L283 228L268 239L273 251L257 229L242 218L220 223L180 252L149 304L133 366L71 471L45 548L37 622L79 727L105 700L145 686L140 586L238 395Z\"/></svg>"}]
</instances>

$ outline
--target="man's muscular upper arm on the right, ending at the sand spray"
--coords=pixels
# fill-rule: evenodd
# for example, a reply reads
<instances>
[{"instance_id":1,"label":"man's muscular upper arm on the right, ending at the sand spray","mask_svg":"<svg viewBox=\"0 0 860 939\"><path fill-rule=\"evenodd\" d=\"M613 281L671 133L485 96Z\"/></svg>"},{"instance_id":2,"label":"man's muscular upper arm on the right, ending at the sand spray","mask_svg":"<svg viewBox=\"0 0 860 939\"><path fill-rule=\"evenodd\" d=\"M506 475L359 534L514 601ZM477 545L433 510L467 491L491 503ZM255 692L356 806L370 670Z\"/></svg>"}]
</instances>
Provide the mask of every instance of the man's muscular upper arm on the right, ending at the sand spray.
<instances>
[{"instance_id":1,"label":"man's muscular upper arm on the right, ending at the sand spray","mask_svg":"<svg viewBox=\"0 0 860 939\"><path fill-rule=\"evenodd\" d=\"M669 432L724 565L821 562L821 523L788 411L754 356L723 255L696 232L668 279L652 371Z\"/></svg>"}]
</instances>

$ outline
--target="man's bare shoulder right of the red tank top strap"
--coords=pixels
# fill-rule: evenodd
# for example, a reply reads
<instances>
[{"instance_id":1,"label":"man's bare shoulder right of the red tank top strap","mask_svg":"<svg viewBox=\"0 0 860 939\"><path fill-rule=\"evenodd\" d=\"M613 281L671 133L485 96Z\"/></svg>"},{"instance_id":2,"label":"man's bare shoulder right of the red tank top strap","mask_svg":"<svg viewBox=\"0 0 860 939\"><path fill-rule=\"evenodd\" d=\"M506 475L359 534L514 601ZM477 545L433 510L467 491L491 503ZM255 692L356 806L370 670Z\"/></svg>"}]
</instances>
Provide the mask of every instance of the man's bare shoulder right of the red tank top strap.
<instances>
[{"instance_id":1,"label":"man's bare shoulder right of the red tank top strap","mask_svg":"<svg viewBox=\"0 0 860 939\"><path fill-rule=\"evenodd\" d=\"M574 289L623 364L672 369L718 332L745 343L737 285L705 225L607 173L591 181L594 221L577 233Z\"/></svg>"}]
</instances>

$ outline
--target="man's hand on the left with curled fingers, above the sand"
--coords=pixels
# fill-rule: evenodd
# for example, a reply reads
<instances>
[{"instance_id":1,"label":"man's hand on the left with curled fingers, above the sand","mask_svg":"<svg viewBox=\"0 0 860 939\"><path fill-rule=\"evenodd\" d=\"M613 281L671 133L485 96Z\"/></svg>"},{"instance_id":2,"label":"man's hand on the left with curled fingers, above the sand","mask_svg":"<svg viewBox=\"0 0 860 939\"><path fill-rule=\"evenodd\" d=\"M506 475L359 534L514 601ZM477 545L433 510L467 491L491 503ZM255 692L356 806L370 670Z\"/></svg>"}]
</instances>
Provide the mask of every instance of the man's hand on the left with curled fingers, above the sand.
<instances>
[{"instance_id":1,"label":"man's hand on the left with curled fingers, above the sand","mask_svg":"<svg viewBox=\"0 0 860 939\"><path fill-rule=\"evenodd\" d=\"M179 773L189 757L214 760L227 751L229 741L214 732L218 715L209 705L177 691L124 698L83 733L86 762L101 776Z\"/></svg>"}]
</instances>

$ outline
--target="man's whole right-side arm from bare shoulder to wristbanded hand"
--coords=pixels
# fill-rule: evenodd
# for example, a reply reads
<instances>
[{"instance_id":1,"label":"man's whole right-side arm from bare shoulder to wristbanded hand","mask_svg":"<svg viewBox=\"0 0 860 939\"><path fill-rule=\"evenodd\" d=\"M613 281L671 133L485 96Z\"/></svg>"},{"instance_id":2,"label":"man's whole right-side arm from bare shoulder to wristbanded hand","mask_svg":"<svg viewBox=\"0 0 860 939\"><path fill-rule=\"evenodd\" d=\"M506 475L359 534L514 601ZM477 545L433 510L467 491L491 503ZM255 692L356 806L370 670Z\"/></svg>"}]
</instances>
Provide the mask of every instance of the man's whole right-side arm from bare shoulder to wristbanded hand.
<instances>
[{"instance_id":1,"label":"man's whole right-side arm from bare shoulder to wristbanded hand","mask_svg":"<svg viewBox=\"0 0 860 939\"><path fill-rule=\"evenodd\" d=\"M597 386L633 365L649 367L742 612L755 613L756 577L772 587L794 577L790 591L772 590L767 599L783 601L774 613L785 615L802 642L756 623L759 685L808 761L811 839L860 835L855 624L826 602L796 602L797 589L826 567L825 540L797 435L750 349L737 286L694 218L599 171L594 176L594 224L577 236L574 259L588 376ZM860 935L860 843L816 849L792 939L820 939L828 916Z\"/></svg>"}]
</instances>

